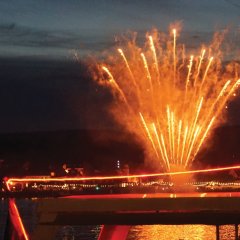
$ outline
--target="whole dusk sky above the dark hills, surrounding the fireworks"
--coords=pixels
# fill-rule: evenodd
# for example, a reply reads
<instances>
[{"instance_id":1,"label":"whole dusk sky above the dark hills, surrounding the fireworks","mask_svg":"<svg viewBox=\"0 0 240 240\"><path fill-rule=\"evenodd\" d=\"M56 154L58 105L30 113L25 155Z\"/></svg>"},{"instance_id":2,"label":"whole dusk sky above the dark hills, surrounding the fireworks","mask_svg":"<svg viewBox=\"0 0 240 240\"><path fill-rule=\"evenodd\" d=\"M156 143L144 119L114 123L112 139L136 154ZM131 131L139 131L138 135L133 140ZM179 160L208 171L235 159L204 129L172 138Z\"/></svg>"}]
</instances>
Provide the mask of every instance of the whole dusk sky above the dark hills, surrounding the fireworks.
<instances>
[{"instance_id":1,"label":"whole dusk sky above the dark hills, surrounding the fireworks","mask_svg":"<svg viewBox=\"0 0 240 240\"><path fill-rule=\"evenodd\" d=\"M101 56L118 35L176 21L191 45L216 29L239 34L239 20L238 0L0 0L0 132L111 128L74 52Z\"/></svg>"}]
</instances>

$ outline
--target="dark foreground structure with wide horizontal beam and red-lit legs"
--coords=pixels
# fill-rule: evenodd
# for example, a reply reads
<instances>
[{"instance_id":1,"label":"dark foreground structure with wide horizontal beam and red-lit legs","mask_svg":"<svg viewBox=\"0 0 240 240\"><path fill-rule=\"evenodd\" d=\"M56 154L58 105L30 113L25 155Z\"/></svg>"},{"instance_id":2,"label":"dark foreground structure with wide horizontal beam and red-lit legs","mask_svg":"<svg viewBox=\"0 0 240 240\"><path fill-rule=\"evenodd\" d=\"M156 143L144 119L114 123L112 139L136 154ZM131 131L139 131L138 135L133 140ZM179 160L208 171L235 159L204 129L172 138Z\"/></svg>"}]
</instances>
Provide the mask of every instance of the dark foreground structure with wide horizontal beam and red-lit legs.
<instances>
[{"instance_id":1,"label":"dark foreground structure with wide horizontal beam and red-lit legs","mask_svg":"<svg viewBox=\"0 0 240 240\"><path fill-rule=\"evenodd\" d=\"M60 226L90 224L104 225L99 240L124 240L130 226L139 224L215 225L216 240L220 225L233 224L239 239L239 192L80 195L35 201L37 226L29 236L10 199L12 234L18 236L13 239L50 240Z\"/></svg>"}]
</instances>

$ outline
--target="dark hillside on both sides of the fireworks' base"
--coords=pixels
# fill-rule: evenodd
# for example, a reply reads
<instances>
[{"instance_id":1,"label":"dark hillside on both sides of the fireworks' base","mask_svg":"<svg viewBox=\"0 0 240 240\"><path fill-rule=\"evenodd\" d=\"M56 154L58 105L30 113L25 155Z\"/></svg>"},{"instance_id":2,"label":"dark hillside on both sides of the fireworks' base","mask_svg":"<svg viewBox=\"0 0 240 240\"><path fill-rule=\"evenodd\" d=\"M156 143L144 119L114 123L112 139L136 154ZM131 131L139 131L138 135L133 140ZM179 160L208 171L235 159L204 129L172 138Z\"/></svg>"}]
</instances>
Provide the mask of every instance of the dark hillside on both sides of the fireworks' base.
<instances>
[{"instance_id":1,"label":"dark hillside on both sides of the fireworks' base","mask_svg":"<svg viewBox=\"0 0 240 240\"><path fill-rule=\"evenodd\" d=\"M238 164L240 127L216 129L194 168ZM84 167L88 174L111 173L117 160L131 172L143 169L144 150L131 134L112 130L66 130L0 135L1 175L49 174L63 163Z\"/></svg>"}]
</instances>

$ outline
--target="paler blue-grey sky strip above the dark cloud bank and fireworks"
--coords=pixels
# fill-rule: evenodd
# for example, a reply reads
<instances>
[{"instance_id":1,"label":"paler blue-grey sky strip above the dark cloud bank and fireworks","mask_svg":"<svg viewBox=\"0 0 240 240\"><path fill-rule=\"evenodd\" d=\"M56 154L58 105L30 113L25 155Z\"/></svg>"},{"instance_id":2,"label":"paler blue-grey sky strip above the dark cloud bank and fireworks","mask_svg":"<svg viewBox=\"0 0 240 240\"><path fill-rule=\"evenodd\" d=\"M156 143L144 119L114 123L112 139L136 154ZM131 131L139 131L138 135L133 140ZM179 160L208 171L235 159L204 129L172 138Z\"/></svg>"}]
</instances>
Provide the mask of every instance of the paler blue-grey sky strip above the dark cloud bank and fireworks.
<instances>
[{"instance_id":1,"label":"paler blue-grey sky strip above the dark cloud bank and fireworks","mask_svg":"<svg viewBox=\"0 0 240 240\"><path fill-rule=\"evenodd\" d=\"M231 26L240 31L238 0L0 0L0 56L68 57L114 45L127 31L186 32Z\"/></svg>"}]
</instances>

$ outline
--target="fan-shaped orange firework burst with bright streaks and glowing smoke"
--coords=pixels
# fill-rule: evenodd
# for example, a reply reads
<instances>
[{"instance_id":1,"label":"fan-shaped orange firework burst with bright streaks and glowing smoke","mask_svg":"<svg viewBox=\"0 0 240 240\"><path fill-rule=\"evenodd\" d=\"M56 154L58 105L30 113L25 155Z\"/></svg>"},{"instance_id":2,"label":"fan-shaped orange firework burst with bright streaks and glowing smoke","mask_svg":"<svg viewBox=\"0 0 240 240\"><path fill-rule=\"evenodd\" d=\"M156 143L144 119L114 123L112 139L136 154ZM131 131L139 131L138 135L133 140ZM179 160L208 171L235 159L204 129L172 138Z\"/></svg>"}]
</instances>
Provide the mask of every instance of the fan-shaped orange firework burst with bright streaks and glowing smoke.
<instances>
[{"instance_id":1,"label":"fan-shaped orange firework burst with bright streaks and glowing smoke","mask_svg":"<svg viewBox=\"0 0 240 240\"><path fill-rule=\"evenodd\" d=\"M239 65L221 66L214 44L185 56L175 28L168 40L161 36L148 35L143 48L135 42L119 48L100 82L114 93L114 117L139 137L146 159L171 172L189 169L222 122L240 84Z\"/></svg>"}]
</instances>

